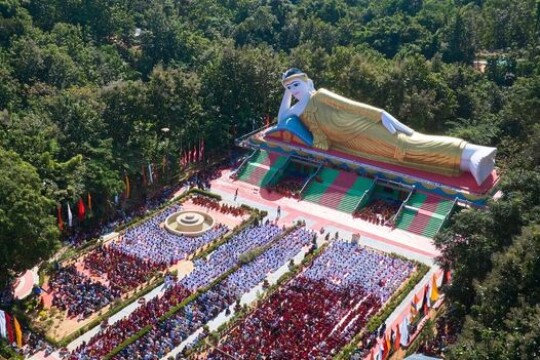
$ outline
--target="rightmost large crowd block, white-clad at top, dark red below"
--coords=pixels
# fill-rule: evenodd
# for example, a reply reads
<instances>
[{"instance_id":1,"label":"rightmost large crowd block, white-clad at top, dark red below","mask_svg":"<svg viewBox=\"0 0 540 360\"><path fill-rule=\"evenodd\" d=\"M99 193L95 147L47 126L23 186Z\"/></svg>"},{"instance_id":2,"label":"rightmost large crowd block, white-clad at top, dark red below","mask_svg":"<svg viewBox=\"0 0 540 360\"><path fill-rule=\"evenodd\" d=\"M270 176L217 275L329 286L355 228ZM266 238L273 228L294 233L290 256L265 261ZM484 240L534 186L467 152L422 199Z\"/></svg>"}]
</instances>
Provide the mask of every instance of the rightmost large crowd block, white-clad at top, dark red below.
<instances>
[{"instance_id":1,"label":"rightmost large crowd block, white-clad at top, dark red below","mask_svg":"<svg viewBox=\"0 0 540 360\"><path fill-rule=\"evenodd\" d=\"M234 328L208 358L332 357L413 269L409 262L338 241Z\"/></svg>"}]
</instances>

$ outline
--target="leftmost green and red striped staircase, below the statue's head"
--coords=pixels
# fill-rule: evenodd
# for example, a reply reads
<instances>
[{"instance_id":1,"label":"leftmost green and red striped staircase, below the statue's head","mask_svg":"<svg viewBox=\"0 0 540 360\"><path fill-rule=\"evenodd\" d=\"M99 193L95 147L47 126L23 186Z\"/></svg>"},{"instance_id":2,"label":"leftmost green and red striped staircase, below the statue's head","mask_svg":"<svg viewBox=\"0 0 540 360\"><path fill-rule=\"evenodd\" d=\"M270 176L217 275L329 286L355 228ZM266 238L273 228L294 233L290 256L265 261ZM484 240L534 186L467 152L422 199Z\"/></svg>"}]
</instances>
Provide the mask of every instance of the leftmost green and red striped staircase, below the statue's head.
<instances>
[{"instance_id":1,"label":"leftmost green and red striped staircase, below the statue's head","mask_svg":"<svg viewBox=\"0 0 540 360\"><path fill-rule=\"evenodd\" d=\"M246 164L238 179L247 183L265 187L275 173L287 162L287 157L279 154L259 150Z\"/></svg>"}]
</instances>

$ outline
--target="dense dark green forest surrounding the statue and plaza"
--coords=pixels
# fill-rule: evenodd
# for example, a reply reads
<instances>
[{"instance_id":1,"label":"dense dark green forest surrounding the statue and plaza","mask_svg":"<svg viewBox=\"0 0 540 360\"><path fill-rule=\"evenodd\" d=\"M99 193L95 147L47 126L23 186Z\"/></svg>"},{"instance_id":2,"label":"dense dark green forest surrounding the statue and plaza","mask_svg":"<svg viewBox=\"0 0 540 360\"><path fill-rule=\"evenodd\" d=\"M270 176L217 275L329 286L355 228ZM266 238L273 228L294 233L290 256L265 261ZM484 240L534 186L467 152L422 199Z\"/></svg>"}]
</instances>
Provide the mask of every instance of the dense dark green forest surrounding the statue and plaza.
<instances>
[{"instance_id":1,"label":"dense dark green forest surrounding the statue and plaza","mask_svg":"<svg viewBox=\"0 0 540 360\"><path fill-rule=\"evenodd\" d=\"M0 287L58 248L58 204L92 194L95 226L126 175L144 193L148 164L166 165L156 188L201 141L227 153L295 66L498 147L503 196L436 239L462 329L447 357L540 357L539 26L537 0L2 0Z\"/></svg>"}]
</instances>

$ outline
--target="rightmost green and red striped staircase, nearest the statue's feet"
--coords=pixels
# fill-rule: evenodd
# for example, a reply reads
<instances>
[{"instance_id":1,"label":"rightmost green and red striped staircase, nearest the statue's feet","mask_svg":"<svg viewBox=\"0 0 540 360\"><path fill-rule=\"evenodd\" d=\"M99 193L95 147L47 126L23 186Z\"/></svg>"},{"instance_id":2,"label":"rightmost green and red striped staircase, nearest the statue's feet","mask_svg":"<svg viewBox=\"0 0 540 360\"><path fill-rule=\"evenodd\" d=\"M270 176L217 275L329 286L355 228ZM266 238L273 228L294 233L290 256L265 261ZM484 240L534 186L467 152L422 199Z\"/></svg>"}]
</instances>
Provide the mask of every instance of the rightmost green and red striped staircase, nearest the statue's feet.
<instances>
[{"instance_id":1,"label":"rightmost green and red striped staircase, nearest the statue's feet","mask_svg":"<svg viewBox=\"0 0 540 360\"><path fill-rule=\"evenodd\" d=\"M396 227L433 238L452 211L454 202L432 194L416 192L405 205Z\"/></svg>"}]
</instances>

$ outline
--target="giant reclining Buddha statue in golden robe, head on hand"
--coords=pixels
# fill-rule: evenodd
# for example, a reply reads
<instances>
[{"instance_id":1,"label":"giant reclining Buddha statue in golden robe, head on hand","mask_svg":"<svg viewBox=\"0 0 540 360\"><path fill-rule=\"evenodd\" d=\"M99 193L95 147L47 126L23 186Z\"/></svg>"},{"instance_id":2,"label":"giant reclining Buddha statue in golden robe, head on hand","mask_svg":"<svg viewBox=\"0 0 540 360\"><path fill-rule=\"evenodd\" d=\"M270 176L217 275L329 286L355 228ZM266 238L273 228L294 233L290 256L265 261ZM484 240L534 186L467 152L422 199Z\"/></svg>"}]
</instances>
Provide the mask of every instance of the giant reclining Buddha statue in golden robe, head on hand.
<instances>
[{"instance_id":1,"label":"giant reclining Buddha statue in golden robe, head on hand","mask_svg":"<svg viewBox=\"0 0 540 360\"><path fill-rule=\"evenodd\" d=\"M315 148L446 176L468 171L478 185L495 165L496 148L416 132L382 109L326 89L315 90L313 81L299 69L287 70L282 84L285 94L278 123L300 118L313 135ZM297 100L294 104L292 97Z\"/></svg>"}]
</instances>

